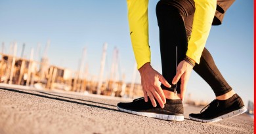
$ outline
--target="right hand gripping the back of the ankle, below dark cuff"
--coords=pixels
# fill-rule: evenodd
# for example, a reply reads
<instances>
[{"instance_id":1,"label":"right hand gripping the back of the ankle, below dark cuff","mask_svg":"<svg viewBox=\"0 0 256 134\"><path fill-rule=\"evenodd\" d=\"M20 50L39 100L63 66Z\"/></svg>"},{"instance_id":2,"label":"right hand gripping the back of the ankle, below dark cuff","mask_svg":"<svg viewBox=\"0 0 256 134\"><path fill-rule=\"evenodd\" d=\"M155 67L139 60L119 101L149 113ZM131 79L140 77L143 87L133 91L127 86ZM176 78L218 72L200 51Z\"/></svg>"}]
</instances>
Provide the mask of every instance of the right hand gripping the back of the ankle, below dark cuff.
<instances>
[{"instance_id":1,"label":"right hand gripping the back of the ankle, below dark cuff","mask_svg":"<svg viewBox=\"0 0 256 134\"><path fill-rule=\"evenodd\" d=\"M184 100L184 94L186 92L186 85L188 84L188 80L190 78L190 74L192 72L193 66L190 63L182 60L177 67L177 74L173 78L173 84L177 84L177 82L181 79L181 100Z\"/></svg>"}]
</instances>

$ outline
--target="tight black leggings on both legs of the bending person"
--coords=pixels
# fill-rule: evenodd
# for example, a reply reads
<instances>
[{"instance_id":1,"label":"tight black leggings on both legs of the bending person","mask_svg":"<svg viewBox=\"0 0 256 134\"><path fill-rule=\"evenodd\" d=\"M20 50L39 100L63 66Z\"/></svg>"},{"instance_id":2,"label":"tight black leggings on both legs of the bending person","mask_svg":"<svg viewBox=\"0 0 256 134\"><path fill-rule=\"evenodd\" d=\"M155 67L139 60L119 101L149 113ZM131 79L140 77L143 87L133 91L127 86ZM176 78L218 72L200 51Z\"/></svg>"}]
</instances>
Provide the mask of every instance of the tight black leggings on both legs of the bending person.
<instances>
[{"instance_id":1,"label":"tight black leggings on both legs of the bending person","mask_svg":"<svg viewBox=\"0 0 256 134\"><path fill-rule=\"evenodd\" d=\"M191 35L194 10L193 0L161 0L156 6L160 29L162 74L170 84L177 73L177 65L186 56L187 38ZM211 86L216 96L232 90L206 48L203 49L200 64L196 64L194 71ZM172 88L161 84L161 88L173 92L175 87L177 93L181 93L180 85L181 81L177 85L172 85Z\"/></svg>"}]
</instances>

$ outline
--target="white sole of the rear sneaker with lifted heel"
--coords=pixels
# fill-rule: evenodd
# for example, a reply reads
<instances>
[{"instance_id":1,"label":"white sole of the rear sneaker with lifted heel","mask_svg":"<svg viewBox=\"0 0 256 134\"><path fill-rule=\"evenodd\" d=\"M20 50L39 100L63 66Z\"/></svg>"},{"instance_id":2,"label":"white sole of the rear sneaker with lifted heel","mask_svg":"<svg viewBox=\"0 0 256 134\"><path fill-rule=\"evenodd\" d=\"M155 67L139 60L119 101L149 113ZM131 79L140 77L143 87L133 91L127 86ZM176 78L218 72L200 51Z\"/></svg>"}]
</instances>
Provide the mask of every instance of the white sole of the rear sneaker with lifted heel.
<instances>
[{"instance_id":1,"label":"white sole of the rear sneaker with lifted heel","mask_svg":"<svg viewBox=\"0 0 256 134\"><path fill-rule=\"evenodd\" d=\"M191 116L189 116L189 118L191 120L196 120L198 122L203 122L203 123L219 122L220 120L223 120L225 118L230 118L230 117L233 117L233 116L238 116L239 114L242 114L242 113L246 112L246 110L247 109L245 107L242 107L242 109L234 110L232 112L229 112L227 114L223 114L222 116L219 116L217 118L213 118L211 120L203 120L203 119L193 118Z\"/></svg>"}]
</instances>

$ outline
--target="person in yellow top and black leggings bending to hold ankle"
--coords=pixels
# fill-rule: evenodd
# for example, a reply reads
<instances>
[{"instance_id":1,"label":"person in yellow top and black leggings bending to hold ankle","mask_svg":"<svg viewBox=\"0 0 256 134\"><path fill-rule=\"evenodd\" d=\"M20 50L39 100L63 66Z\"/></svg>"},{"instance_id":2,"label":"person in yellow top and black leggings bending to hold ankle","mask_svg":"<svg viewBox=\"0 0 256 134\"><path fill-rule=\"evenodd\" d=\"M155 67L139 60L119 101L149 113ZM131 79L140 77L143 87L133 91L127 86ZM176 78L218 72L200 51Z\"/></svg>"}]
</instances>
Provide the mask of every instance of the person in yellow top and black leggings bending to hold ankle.
<instances>
[{"instance_id":1,"label":"person in yellow top and black leggings bending to hold ankle","mask_svg":"<svg viewBox=\"0 0 256 134\"><path fill-rule=\"evenodd\" d=\"M191 120L217 122L246 111L205 48L211 25L220 25L234 0L160 0L156 15L160 30L162 74L150 65L148 0L127 0L131 42L141 76L144 97L118 103L117 109L131 114L184 120L182 100L192 69L216 95L216 99ZM158 82L161 82L161 86Z\"/></svg>"}]
</instances>

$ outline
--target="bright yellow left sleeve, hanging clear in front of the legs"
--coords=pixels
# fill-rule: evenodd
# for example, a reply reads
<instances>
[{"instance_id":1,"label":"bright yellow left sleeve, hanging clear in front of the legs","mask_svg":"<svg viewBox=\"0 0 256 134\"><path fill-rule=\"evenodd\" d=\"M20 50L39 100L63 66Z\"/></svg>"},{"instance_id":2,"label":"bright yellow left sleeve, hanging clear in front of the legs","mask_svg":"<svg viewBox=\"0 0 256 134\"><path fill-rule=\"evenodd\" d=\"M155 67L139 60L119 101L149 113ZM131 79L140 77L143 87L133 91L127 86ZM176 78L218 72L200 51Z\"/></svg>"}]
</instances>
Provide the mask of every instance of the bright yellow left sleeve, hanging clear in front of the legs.
<instances>
[{"instance_id":1,"label":"bright yellow left sleeve, hanging clear in front of the legs","mask_svg":"<svg viewBox=\"0 0 256 134\"><path fill-rule=\"evenodd\" d=\"M150 62L148 44L148 0L127 0L131 43L137 69Z\"/></svg>"}]
</instances>

